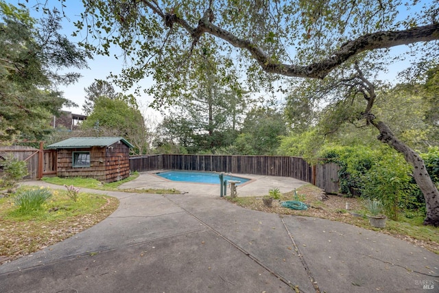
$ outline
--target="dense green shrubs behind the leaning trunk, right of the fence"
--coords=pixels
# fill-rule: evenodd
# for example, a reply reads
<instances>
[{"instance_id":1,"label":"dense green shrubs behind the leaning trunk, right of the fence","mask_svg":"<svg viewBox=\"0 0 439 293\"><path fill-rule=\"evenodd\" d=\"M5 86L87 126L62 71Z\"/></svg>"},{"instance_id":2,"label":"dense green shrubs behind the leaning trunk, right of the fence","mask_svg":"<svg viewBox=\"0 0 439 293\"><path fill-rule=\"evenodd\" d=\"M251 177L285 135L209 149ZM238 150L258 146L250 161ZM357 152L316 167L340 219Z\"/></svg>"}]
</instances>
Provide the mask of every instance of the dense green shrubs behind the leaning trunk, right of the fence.
<instances>
[{"instance_id":1,"label":"dense green shrubs behind the leaning trunk, right of the fence","mask_svg":"<svg viewBox=\"0 0 439 293\"><path fill-rule=\"evenodd\" d=\"M423 154L431 178L439 172L439 149ZM340 165L340 192L347 196L377 198L383 203L386 215L396 220L401 211L425 211L423 194L412 178L412 166L402 154L379 146L376 150L355 146L324 148L322 157Z\"/></svg>"}]
</instances>

